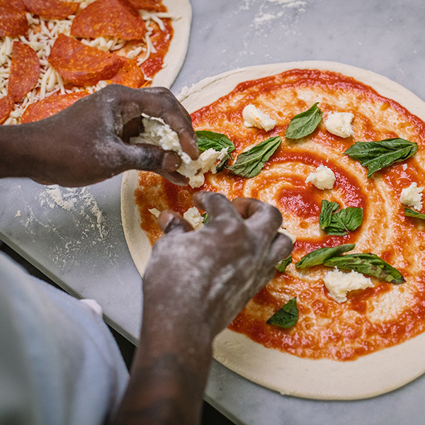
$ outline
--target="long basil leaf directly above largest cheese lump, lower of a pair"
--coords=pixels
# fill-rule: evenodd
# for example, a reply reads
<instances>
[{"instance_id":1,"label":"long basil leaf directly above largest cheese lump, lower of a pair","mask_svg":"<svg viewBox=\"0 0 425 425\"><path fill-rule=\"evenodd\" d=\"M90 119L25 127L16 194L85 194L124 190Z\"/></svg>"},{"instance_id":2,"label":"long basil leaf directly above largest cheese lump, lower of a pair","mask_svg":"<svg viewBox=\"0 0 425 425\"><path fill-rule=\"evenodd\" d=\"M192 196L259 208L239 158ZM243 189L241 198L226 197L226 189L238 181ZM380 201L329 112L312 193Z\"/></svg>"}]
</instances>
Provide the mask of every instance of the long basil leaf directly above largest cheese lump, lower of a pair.
<instances>
[{"instance_id":1,"label":"long basil leaf directly above largest cheese lump, lower of a pair","mask_svg":"<svg viewBox=\"0 0 425 425\"><path fill-rule=\"evenodd\" d=\"M358 271L358 273L374 276L395 285L405 281L402 273L397 268L390 266L390 264L375 254L346 254L331 258L325 261L324 265L342 270Z\"/></svg>"}]
</instances>

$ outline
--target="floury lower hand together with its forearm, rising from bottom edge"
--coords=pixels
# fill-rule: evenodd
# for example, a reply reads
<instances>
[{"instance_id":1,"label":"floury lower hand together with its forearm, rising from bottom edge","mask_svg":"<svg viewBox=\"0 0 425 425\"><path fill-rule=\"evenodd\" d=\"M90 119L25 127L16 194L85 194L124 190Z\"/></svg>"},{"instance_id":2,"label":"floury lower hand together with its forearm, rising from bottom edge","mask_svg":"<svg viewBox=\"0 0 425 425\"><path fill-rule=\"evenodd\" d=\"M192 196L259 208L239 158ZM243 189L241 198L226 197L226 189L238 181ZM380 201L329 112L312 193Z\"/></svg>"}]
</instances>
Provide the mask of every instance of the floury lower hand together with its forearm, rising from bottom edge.
<instances>
[{"instance_id":1,"label":"floury lower hand together with its forearm, rising from bottom edge","mask_svg":"<svg viewBox=\"0 0 425 425\"><path fill-rule=\"evenodd\" d=\"M210 217L196 232L174 212L159 216L165 236L154 244L143 278L140 348L118 423L159 402L164 423L176 417L181 424L198 423L212 339L292 250L290 239L278 233L282 217L271 205L229 202L210 192L195 193L193 202Z\"/></svg>"}]
</instances>

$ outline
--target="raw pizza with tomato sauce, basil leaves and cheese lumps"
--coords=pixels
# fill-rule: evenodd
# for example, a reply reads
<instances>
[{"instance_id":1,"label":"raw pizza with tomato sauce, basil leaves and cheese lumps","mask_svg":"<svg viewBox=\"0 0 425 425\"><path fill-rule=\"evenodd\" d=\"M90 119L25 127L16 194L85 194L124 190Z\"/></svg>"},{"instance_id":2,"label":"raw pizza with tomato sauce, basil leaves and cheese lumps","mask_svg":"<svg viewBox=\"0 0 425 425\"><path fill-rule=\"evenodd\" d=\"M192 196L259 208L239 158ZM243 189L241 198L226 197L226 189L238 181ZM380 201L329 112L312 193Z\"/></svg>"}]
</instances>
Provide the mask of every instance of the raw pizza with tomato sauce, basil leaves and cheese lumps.
<instances>
[{"instance_id":1,"label":"raw pizza with tomato sauce, basil leaves and cheese lumps","mask_svg":"<svg viewBox=\"0 0 425 425\"><path fill-rule=\"evenodd\" d=\"M224 137L232 157L198 188L125 175L123 225L140 273L161 237L152 212L183 214L198 190L271 203L296 239L217 336L215 358L317 399L373 397L424 373L424 103L333 62L238 69L182 101L198 141Z\"/></svg>"}]
</instances>

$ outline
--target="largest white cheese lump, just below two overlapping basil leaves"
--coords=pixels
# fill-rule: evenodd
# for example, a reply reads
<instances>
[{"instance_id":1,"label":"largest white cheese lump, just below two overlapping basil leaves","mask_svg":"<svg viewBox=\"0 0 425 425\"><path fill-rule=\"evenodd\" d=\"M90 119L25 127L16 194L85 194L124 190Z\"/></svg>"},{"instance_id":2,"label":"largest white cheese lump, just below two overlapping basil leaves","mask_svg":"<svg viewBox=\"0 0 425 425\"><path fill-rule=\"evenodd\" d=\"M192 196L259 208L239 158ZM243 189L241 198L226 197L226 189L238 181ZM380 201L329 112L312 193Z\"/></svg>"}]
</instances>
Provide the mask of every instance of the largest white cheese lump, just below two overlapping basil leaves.
<instances>
[{"instance_id":1,"label":"largest white cheese lump, just below two overlapping basil leaves","mask_svg":"<svg viewBox=\"0 0 425 425\"><path fill-rule=\"evenodd\" d=\"M328 271L323 280L324 285L329 290L329 295L336 302L346 301L347 293L351 290L373 287L370 278L366 278L363 274L353 270L351 273L344 273L335 268L333 271Z\"/></svg>"}]
</instances>

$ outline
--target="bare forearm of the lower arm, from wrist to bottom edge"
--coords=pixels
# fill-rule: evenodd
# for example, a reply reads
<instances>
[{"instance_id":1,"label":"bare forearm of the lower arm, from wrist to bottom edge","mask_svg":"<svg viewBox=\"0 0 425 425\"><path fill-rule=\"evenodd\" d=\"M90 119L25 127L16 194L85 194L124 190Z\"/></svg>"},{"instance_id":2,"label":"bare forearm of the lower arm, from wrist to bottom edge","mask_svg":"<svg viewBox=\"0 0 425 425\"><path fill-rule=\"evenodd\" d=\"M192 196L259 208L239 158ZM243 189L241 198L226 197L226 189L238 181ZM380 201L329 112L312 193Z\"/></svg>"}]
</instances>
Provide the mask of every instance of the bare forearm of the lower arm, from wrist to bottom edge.
<instances>
[{"instance_id":1,"label":"bare forearm of the lower arm, from wrist to bottom edge","mask_svg":"<svg viewBox=\"0 0 425 425\"><path fill-rule=\"evenodd\" d=\"M159 324L159 326L158 326ZM196 336L193 324L168 324L162 314L144 314L140 346L130 383L114 425L188 424L200 421L211 362L211 341Z\"/></svg>"}]
</instances>

